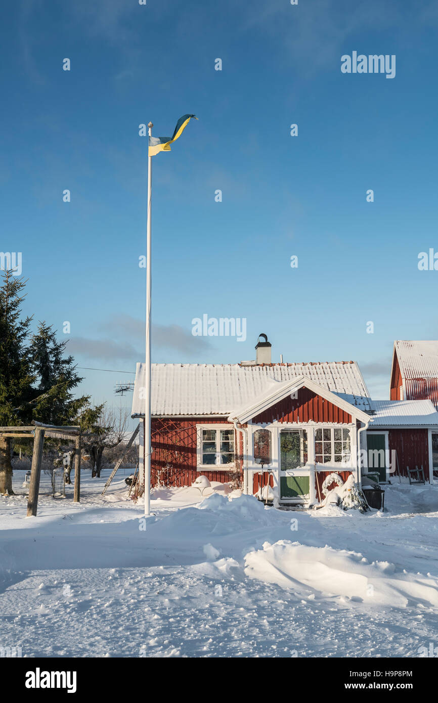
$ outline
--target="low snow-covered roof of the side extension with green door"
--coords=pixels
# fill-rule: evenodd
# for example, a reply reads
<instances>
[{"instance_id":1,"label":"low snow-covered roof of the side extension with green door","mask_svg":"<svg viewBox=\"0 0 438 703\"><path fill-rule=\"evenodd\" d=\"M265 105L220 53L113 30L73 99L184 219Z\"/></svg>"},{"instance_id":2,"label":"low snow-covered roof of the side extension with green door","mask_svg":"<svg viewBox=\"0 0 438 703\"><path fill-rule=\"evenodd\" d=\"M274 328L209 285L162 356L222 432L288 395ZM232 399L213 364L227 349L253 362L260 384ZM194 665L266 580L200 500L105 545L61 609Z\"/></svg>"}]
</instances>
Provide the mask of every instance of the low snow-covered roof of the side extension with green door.
<instances>
[{"instance_id":1,"label":"low snow-covered roof of the side extension with green door","mask_svg":"<svg viewBox=\"0 0 438 703\"><path fill-rule=\"evenodd\" d=\"M430 400L373 400L375 415L369 429L379 427L438 425L438 413Z\"/></svg>"}]
</instances>

